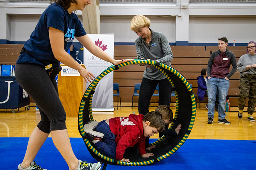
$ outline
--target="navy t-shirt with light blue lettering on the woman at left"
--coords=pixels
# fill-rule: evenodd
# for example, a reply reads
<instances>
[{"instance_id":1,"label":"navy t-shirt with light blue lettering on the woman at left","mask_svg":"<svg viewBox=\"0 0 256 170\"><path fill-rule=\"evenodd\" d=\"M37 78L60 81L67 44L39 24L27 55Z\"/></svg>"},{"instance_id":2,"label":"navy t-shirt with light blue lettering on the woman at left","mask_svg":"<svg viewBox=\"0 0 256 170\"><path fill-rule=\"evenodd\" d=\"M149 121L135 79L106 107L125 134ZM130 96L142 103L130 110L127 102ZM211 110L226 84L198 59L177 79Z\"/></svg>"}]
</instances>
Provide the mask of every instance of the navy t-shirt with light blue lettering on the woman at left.
<instances>
[{"instance_id":1,"label":"navy t-shirt with light blue lettering on the woman at left","mask_svg":"<svg viewBox=\"0 0 256 170\"><path fill-rule=\"evenodd\" d=\"M74 13L69 15L62 6L53 3L41 15L30 39L24 44L26 53L22 53L16 63L36 63L43 67L49 64L59 66L50 45L49 27L64 32L65 51L68 51L75 36L86 35L82 23Z\"/></svg>"}]
</instances>

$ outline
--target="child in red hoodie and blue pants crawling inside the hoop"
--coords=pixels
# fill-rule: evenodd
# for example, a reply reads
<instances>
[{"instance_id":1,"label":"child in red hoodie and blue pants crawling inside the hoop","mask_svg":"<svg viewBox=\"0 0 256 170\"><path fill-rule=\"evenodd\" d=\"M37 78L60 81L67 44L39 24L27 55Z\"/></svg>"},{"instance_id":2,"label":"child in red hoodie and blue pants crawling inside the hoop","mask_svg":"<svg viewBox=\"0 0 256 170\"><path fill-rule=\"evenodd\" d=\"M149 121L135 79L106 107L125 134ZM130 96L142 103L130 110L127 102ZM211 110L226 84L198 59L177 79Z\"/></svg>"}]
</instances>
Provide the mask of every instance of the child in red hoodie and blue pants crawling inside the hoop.
<instances>
[{"instance_id":1,"label":"child in red hoodie and blue pants crawling inside the hoop","mask_svg":"<svg viewBox=\"0 0 256 170\"><path fill-rule=\"evenodd\" d=\"M103 120L98 123L96 133L88 131L86 128L84 130L100 153L112 159L130 162L129 159L123 158L123 154L127 147L132 147L136 143L139 154L143 158L154 155L153 153L146 153L145 138L162 132L164 126L162 115L152 111L145 116L130 114L129 117ZM98 132L102 133L102 136L96 136Z\"/></svg>"}]
</instances>

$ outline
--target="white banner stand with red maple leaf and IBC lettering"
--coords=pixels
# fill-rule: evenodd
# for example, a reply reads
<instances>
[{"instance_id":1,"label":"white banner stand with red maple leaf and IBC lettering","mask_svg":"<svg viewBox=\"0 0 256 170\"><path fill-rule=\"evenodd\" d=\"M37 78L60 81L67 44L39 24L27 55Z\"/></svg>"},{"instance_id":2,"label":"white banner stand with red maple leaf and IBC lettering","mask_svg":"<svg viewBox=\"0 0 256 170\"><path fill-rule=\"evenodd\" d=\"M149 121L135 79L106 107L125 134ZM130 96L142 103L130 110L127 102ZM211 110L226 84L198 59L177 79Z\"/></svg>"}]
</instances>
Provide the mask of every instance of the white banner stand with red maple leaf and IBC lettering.
<instances>
[{"instance_id":1,"label":"white banner stand with red maple leaf and IBC lettering","mask_svg":"<svg viewBox=\"0 0 256 170\"><path fill-rule=\"evenodd\" d=\"M114 58L114 34L87 34L92 42ZM84 65L95 77L112 64L92 55L84 48ZM86 83L86 89L89 86ZM92 111L114 111L113 106L113 72L107 74L98 83L92 97Z\"/></svg>"}]
</instances>

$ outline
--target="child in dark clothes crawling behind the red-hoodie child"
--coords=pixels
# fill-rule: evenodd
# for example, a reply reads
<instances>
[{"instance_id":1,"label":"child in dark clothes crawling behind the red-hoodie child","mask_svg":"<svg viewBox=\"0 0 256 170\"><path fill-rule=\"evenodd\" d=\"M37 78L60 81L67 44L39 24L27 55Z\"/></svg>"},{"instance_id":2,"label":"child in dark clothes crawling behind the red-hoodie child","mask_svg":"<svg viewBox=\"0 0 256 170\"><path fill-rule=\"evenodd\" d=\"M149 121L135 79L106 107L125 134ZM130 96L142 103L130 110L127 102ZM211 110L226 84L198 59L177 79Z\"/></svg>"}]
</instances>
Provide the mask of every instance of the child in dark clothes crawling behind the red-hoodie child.
<instances>
[{"instance_id":1,"label":"child in dark clothes crawling behind the red-hoodie child","mask_svg":"<svg viewBox=\"0 0 256 170\"><path fill-rule=\"evenodd\" d=\"M155 109L155 112L160 113L165 122L165 130L162 131L161 133L159 133L159 138L162 137L163 135L167 135L167 136L171 136L171 137L177 136L180 132L181 124L179 124L177 126L175 131L171 131L168 129L169 123L171 123L173 120L173 113L172 113L172 110L170 109L170 107L168 107L166 105L160 105ZM146 142L146 150L147 151L150 151L152 148L155 148L155 145L149 146L149 137L146 138L145 142Z\"/></svg>"}]
</instances>

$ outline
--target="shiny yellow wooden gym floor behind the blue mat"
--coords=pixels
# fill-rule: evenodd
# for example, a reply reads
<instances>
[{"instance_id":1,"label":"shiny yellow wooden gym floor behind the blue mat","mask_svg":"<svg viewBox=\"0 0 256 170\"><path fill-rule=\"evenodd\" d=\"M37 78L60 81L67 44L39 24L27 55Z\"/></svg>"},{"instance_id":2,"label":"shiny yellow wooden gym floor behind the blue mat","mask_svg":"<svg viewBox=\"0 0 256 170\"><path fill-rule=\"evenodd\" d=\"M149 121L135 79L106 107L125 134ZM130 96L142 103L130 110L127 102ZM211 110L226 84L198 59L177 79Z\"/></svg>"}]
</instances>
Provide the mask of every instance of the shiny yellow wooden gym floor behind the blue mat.
<instances>
[{"instance_id":1,"label":"shiny yellow wooden gym floor behind the blue mat","mask_svg":"<svg viewBox=\"0 0 256 170\"><path fill-rule=\"evenodd\" d=\"M35 107L29 111L20 108L20 112L12 113L11 109L0 109L0 137L29 137L37 123L40 121L39 112ZM156 107L150 107L153 111ZM115 107L117 109L117 107ZM171 108L175 111L175 108ZM256 140L256 124L247 120L247 112L244 112L242 119L238 118L238 112L226 112L226 119L230 125L218 123L218 112L215 112L213 124L207 124L207 109L201 107L196 113L196 120L188 139L220 139L220 140ZM114 112L94 112L94 119L101 121L117 116L138 114L138 107L122 107ZM255 115L253 115L255 116ZM256 118L256 116L255 116ZM69 137L81 137L78 131L78 118L67 118L66 126ZM158 134L153 136L158 138Z\"/></svg>"}]
</instances>

